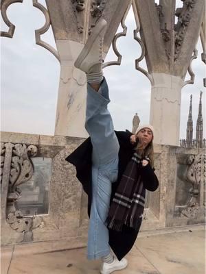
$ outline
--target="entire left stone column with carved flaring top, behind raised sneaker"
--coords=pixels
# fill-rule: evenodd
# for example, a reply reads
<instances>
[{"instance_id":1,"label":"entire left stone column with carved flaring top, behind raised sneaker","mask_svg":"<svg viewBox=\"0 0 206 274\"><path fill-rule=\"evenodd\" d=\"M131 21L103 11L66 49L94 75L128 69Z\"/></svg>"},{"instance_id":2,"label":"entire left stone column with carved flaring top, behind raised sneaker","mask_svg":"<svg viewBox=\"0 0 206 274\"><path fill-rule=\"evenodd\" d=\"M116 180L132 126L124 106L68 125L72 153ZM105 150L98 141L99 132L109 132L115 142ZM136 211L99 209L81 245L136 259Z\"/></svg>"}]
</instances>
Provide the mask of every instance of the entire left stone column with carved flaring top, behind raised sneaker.
<instances>
[{"instance_id":1,"label":"entire left stone column with carved flaring top, behind raised sneaker","mask_svg":"<svg viewBox=\"0 0 206 274\"><path fill-rule=\"evenodd\" d=\"M47 21L48 24L51 21L61 66L56 110L56 136L87 137L84 129L86 77L84 73L74 68L73 63L101 16L108 23L103 47L104 55L106 55L131 1L46 0ZM46 14L39 4L37 7ZM119 36L123 35L126 33L119 34Z\"/></svg>"}]
</instances>

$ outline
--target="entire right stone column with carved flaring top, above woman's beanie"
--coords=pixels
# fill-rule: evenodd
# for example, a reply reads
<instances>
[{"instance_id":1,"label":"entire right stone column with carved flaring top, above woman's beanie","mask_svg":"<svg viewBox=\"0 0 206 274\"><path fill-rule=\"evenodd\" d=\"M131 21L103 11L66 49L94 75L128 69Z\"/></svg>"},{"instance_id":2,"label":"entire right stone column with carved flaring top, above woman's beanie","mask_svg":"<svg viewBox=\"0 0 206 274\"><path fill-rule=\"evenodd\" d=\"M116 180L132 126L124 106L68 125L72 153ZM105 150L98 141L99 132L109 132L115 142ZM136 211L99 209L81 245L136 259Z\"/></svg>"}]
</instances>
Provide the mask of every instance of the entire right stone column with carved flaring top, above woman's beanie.
<instances>
[{"instance_id":1,"label":"entire right stone column with carved flaring top, above woman's beanie","mask_svg":"<svg viewBox=\"0 0 206 274\"><path fill-rule=\"evenodd\" d=\"M191 62L201 32L205 1L183 1L182 7L176 8L173 0L159 1L159 5L155 1L134 0L133 6L141 37L135 40L141 41L148 72L139 64L142 57L136 60L136 69L152 85L150 123L155 127L155 142L179 146L181 89L193 82ZM187 70L191 79L184 82Z\"/></svg>"}]
</instances>

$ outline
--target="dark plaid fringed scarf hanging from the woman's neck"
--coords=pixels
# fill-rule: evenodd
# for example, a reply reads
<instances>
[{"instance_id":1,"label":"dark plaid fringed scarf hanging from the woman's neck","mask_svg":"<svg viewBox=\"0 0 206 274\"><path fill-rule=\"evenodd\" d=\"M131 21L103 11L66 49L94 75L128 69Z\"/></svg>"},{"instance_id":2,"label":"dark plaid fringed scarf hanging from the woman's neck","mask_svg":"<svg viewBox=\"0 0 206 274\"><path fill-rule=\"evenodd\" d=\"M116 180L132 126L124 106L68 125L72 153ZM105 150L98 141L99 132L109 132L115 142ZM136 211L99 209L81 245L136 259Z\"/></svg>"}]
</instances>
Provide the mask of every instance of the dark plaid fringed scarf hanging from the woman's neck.
<instances>
[{"instance_id":1,"label":"dark plaid fringed scarf hanging from the woman's neck","mask_svg":"<svg viewBox=\"0 0 206 274\"><path fill-rule=\"evenodd\" d=\"M108 228L122 231L123 225L138 229L144 212L145 188L139 175L141 156L136 152L126 166L111 202L106 223Z\"/></svg>"}]
</instances>

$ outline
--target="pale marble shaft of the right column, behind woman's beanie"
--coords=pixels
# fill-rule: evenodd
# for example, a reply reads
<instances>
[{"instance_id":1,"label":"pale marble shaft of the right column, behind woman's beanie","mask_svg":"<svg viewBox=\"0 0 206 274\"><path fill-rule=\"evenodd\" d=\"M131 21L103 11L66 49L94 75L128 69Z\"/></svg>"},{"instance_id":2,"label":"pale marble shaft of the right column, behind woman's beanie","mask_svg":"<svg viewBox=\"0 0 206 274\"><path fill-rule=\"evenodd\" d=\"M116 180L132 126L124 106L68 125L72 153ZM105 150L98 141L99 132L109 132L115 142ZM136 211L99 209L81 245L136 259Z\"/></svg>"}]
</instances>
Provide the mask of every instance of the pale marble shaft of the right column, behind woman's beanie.
<instances>
[{"instance_id":1,"label":"pale marble shaft of the right column, behind woman's beanie","mask_svg":"<svg viewBox=\"0 0 206 274\"><path fill-rule=\"evenodd\" d=\"M165 73L153 73L152 77L150 123L155 127L154 142L179 146L183 79Z\"/></svg>"}]
</instances>

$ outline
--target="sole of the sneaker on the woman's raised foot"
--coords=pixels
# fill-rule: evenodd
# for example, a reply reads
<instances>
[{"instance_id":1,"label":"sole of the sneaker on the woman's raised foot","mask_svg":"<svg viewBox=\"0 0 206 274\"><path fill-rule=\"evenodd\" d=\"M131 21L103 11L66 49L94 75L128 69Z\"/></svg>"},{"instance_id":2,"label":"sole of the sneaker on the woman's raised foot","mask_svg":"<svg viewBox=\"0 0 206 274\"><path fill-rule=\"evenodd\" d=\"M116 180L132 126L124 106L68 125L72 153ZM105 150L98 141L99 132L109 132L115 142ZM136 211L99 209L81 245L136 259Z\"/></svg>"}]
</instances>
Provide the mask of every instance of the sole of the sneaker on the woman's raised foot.
<instances>
[{"instance_id":1,"label":"sole of the sneaker on the woman's raised foot","mask_svg":"<svg viewBox=\"0 0 206 274\"><path fill-rule=\"evenodd\" d=\"M104 19L102 19L101 22L102 23L104 22L104 24L102 24L101 27L98 27L98 25L96 25L96 27L93 29L93 33L91 34L91 36L88 38L86 44L84 45L84 49L82 49L77 60L74 62L74 66L76 66L77 69L80 68L82 62L87 57L89 51L91 50L91 47L93 46L93 42L95 41L97 36L100 34L100 32L102 32L104 27L106 27L106 24L107 24L106 21Z\"/></svg>"}]
</instances>

